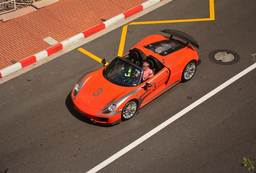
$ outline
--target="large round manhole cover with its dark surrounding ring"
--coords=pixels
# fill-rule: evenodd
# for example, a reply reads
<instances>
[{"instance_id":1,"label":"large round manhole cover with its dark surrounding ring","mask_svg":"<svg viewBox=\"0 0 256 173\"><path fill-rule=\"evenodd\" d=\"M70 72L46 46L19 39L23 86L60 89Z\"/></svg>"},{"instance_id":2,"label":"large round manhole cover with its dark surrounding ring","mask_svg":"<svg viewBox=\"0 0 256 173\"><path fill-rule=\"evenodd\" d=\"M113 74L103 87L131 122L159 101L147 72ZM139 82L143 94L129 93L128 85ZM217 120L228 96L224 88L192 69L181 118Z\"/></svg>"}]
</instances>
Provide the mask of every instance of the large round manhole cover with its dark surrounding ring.
<instances>
[{"instance_id":1,"label":"large round manhole cover with its dark surrounding ring","mask_svg":"<svg viewBox=\"0 0 256 173\"><path fill-rule=\"evenodd\" d=\"M239 61L239 55L232 50L214 50L209 54L211 61L216 64L231 65Z\"/></svg>"}]
</instances>

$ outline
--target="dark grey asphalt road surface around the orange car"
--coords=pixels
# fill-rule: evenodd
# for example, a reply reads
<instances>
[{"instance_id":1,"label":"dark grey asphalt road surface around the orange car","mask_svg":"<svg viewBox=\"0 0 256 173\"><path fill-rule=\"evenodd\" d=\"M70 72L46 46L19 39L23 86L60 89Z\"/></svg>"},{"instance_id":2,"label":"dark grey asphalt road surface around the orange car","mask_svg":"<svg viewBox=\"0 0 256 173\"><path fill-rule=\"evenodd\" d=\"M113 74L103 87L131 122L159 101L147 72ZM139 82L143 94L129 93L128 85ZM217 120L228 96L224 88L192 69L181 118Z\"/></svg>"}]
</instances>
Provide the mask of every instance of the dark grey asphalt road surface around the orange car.
<instances>
[{"instance_id":1,"label":"dark grey asphalt road surface around the orange car","mask_svg":"<svg viewBox=\"0 0 256 173\"><path fill-rule=\"evenodd\" d=\"M256 1L215 0L215 20L129 25L124 52L159 30L186 32L199 43L195 76L111 127L81 118L70 92L102 64L74 49L0 84L0 173L87 172L255 63ZM173 0L133 22L209 18L208 0ZM81 46L107 62L122 27ZM227 49L239 61L210 60ZM248 72L99 172L241 173L256 162L256 69ZM192 99L187 99L192 97ZM254 169L255 172L255 169Z\"/></svg>"}]
</instances>

